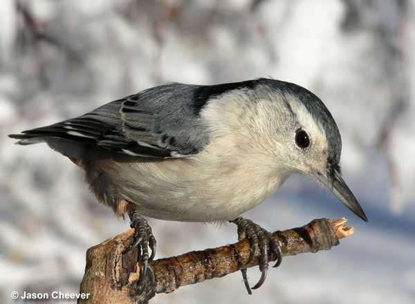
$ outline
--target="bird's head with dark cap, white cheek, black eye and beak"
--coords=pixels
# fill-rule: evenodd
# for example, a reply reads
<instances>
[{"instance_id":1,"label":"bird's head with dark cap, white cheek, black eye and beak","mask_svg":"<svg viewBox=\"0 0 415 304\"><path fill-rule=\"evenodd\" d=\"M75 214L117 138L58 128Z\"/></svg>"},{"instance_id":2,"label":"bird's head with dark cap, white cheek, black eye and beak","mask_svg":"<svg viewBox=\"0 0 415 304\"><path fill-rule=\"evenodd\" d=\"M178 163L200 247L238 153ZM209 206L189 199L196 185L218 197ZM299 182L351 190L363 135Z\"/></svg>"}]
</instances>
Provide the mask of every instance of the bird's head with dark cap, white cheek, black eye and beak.
<instances>
[{"instance_id":1,"label":"bird's head with dark cap, white cheek, black eye and beak","mask_svg":"<svg viewBox=\"0 0 415 304\"><path fill-rule=\"evenodd\" d=\"M322 101L287 82L260 79L253 98L257 132L268 133L268 147L287 171L304 173L329 189L347 208L367 221L340 171L342 140ZM270 144L270 142L272 142Z\"/></svg>"}]
</instances>

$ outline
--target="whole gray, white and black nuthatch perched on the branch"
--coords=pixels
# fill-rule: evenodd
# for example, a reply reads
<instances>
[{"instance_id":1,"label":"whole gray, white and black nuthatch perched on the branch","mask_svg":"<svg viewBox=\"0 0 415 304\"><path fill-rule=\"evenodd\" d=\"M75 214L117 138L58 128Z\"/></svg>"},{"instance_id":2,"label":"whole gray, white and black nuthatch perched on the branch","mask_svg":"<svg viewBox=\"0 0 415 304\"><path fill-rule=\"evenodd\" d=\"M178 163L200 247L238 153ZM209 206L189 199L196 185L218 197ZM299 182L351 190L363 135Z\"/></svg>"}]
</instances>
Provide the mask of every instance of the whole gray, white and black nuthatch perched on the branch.
<instances>
[{"instance_id":1,"label":"whole gray, white and black nuthatch perched on the branch","mask_svg":"<svg viewBox=\"0 0 415 304\"><path fill-rule=\"evenodd\" d=\"M270 197L293 173L329 189L367 216L342 178L342 140L324 103L306 88L272 78L214 85L168 83L109 102L79 117L9 135L46 142L85 171L96 198L128 214L138 248L140 284L156 253L146 218L232 222L239 240L282 261L282 243L242 213ZM150 255L151 251L151 255ZM241 269L248 293L246 269ZM144 283L143 283L144 282Z\"/></svg>"}]
</instances>

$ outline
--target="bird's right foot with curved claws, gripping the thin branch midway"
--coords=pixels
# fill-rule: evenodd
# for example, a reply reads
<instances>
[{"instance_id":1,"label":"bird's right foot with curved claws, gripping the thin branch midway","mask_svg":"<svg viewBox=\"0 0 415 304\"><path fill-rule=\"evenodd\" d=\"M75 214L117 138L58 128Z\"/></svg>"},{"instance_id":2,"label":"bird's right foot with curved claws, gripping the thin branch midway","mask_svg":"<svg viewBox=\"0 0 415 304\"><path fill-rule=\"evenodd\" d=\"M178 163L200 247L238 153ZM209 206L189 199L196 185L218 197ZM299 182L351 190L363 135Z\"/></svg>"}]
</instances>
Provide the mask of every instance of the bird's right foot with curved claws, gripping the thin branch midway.
<instances>
[{"instance_id":1,"label":"bird's right foot with curved claws, gripping the thin branch midway","mask_svg":"<svg viewBox=\"0 0 415 304\"><path fill-rule=\"evenodd\" d=\"M269 231L246 218L235 218L231 220L238 227L238 240L249 240L250 243L250 261L255 256L255 252L259 249L259 270L261 270L261 278L258 283L252 287L257 289L265 282L268 272L268 251L272 250L277 256L277 263L273 267L278 267L282 261L282 244L275 240ZM246 269L241 269L243 283L245 283L248 294L252 294L249 287L248 278L246 277Z\"/></svg>"}]
</instances>

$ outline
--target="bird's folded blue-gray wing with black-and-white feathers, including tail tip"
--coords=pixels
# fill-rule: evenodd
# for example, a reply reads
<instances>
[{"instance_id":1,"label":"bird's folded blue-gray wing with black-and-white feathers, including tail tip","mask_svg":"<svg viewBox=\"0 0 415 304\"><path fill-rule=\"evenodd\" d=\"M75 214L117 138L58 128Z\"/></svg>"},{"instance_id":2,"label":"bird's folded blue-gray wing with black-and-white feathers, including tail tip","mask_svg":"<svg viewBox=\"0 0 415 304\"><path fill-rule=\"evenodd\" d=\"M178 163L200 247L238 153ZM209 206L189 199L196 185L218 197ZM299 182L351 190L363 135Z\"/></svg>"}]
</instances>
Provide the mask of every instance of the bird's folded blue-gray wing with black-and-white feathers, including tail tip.
<instances>
[{"instance_id":1,"label":"bird's folded blue-gray wing with black-and-white feathers, including tail tip","mask_svg":"<svg viewBox=\"0 0 415 304\"><path fill-rule=\"evenodd\" d=\"M9 136L19 139L18 144L48 142L67 155L71 151L65 150L74 145L144 158L192 155L209 142L208 128L199 116L201 105L194 103L198 88L149 88L80 117Z\"/></svg>"}]
</instances>

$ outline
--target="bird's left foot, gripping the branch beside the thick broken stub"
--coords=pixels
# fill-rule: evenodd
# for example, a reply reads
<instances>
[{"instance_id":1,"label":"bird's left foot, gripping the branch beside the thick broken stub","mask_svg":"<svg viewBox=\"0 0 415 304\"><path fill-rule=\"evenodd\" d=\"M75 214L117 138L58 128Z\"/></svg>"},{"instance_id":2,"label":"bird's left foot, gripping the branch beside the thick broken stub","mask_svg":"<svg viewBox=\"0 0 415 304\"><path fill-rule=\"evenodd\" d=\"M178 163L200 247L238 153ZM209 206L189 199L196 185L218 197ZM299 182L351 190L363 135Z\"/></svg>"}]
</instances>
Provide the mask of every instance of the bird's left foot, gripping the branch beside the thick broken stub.
<instances>
[{"instance_id":1,"label":"bird's left foot, gripping the branch beside the thick broken stub","mask_svg":"<svg viewBox=\"0 0 415 304\"><path fill-rule=\"evenodd\" d=\"M138 280L138 288L145 288L147 276L153 277L152 272L147 274L149 262L154 259L156 255L156 238L154 238L151 227L147 220L140 216L136 211L129 213L131 222L130 227L133 228L134 236L133 243L129 246L127 251L138 248L138 262L140 264L140 278ZM151 256L149 255L151 249ZM154 277L153 277L154 278Z\"/></svg>"}]
</instances>

